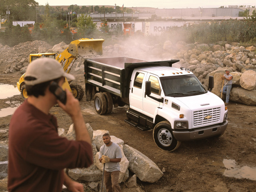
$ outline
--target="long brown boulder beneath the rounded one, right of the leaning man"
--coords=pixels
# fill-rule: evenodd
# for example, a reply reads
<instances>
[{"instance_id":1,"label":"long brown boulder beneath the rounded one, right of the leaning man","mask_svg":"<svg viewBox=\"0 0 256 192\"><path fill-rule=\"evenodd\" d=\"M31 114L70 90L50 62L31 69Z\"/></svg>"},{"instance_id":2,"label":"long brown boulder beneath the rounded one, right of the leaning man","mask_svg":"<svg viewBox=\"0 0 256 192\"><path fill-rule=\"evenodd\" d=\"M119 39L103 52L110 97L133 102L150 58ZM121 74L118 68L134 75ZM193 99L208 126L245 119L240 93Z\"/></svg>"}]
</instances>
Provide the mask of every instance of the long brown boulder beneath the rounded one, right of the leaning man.
<instances>
[{"instance_id":1,"label":"long brown boulder beneath the rounded one, right of the leaning man","mask_svg":"<svg viewBox=\"0 0 256 192\"><path fill-rule=\"evenodd\" d=\"M232 87L230 100L246 105L256 106L256 90L246 90L241 87Z\"/></svg>"}]
</instances>

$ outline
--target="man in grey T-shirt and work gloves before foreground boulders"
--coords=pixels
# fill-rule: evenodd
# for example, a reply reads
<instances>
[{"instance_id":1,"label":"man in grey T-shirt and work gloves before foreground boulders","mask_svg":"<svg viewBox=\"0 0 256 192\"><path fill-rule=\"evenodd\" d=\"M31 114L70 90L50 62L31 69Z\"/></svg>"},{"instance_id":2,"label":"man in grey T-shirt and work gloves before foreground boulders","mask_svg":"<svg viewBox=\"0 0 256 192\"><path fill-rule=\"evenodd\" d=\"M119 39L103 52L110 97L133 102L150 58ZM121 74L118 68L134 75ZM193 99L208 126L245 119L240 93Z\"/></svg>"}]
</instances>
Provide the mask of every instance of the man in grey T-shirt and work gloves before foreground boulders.
<instances>
[{"instance_id":1,"label":"man in grey T-shirt and work gloves before foreground boulders","mask_svg":"<svg viewBox=\"0 0 256 192\"><path fill-rule=\"evenodd\" d=\"M118 144L111 141L110 135L105 133L102 136L105 143L100 147L99 161L105 163L104 184L107 192L121 192L118 184L120 173L119 162L122 158L122 152Z\"/></svg>"}]
</instances>

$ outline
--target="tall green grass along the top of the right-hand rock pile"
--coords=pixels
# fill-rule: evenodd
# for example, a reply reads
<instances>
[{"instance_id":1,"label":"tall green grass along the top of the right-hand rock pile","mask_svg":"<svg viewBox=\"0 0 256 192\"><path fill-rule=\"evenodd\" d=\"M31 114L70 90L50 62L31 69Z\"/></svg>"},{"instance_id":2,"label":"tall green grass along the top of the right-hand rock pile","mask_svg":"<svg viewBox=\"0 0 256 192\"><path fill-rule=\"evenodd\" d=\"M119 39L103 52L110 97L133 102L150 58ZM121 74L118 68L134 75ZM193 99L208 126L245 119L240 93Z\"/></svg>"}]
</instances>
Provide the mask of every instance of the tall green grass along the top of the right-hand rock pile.
<instances>
[{"instance_id":1,"label":"tall green grass along the top of the right-hand rock pile","mask_svg":"<svg viewBox=\"0 0 256 192\"><path fill-rule=\"evenodd\" d=\"M251 20L225 20L205 22L191 26L172 27L166 32L172 41L188 43L214 43L218 41L248 42L256 38L256 22Z\"/></svg>"}]
</instances>

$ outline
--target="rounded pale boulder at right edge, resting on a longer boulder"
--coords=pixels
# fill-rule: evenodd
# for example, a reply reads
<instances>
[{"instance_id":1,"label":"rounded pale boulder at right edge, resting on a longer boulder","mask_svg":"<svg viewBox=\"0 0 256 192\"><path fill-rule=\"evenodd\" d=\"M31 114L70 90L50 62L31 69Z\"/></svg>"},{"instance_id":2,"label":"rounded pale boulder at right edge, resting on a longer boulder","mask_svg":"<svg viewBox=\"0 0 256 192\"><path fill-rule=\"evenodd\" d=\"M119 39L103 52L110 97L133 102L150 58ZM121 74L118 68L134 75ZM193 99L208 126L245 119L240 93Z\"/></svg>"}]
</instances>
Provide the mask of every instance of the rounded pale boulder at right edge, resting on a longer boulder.
<instances>
[{"instance_id":1,"label":"rounded pale boulder at right edge, resting on a longer boulder","mask_svg":"<svg viewBox=\"0 0 256 192\"><path fill-rule=\"evenodd\" d=\"M247 90L253 90L256 85L256 72L254 70L245 71L240 78L240 85Z\"/></svg>"}]
</instances>

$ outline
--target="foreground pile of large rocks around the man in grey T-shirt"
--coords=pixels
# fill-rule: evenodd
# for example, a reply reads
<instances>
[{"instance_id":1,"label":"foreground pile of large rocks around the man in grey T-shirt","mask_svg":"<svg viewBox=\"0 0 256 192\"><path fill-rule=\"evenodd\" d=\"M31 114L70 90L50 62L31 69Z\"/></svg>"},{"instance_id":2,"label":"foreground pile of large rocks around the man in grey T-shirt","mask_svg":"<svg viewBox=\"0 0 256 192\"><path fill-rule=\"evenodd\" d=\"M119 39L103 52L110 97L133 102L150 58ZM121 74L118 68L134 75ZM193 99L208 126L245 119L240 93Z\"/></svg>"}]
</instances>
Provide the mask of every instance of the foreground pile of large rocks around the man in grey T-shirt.
<instances>
[{"instance_id":1,"label":"foreground pile of large rocks around the man in grey T-shirt","mask_svg":"<svg viewBox=\"0 0 256 192\"><path fill-rule=\"evenodd\" d=\"M90 124L86 124L86 126L92 139L94 164L89 168L69 169L66 170L66 172L71 178L79 182L96 182L96 184L100 185L100 180L102 179L103 165L99 161L99 150L100 147L104 145L104 142L102 141L102 135L105 133L109 134L109 132L107 130L93 131ZM69 140L75 139L73 124L70 126L66 135L64 134L63 129L59 129L58 132L61 136L65 136ZM158 181L163 176L163 172L147 156L145 156L138 150L124 144L123 140L115 136L110 137L111 141L118 144L122 151L119 183L125 182L127 186L130 186L132 181L134 183L134 177L138 177L141 181L144 182L153 183ZM134 173L136 176L133 176L131 180L127 181L127 179L129 178L129 171ZM136 187L134 185L132 186Z\"/></svg>"}]
</instances>

